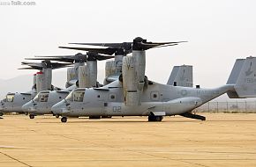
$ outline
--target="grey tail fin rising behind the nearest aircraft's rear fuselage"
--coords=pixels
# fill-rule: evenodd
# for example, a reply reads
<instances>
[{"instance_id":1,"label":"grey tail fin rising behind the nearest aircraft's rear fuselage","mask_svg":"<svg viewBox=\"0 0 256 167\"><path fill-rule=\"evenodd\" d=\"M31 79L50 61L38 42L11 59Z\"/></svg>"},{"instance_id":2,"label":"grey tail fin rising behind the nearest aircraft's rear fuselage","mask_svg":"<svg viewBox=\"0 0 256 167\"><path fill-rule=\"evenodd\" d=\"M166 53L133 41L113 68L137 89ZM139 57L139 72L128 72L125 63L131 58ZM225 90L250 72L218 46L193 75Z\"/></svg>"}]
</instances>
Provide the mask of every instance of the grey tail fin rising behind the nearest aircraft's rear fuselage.
<instances>
[{"instance_id":1,"label":"grey tail fin rising behind the nearest aircraft's rear fuselage","mask_svg":"<svg viewBox=\"0 0 256 167\"><path fill-rule=\"evenodd\" d=\"M192 66L174 66L170 73L167 84L192 87Z\"/></svg>"}]
</instances>

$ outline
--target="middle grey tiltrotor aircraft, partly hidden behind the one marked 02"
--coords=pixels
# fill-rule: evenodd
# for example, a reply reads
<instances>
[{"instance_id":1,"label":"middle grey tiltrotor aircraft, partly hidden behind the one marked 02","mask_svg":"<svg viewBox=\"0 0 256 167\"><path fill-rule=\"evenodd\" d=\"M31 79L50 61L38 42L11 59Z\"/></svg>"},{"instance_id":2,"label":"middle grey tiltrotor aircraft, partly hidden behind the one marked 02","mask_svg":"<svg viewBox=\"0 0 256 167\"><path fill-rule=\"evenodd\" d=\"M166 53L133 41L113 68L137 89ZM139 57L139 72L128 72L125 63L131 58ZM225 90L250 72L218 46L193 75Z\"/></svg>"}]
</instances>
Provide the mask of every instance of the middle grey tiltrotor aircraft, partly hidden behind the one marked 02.
<instances>
[{"instance_id":1,"label":"middle grey tiltrotor aircraft, partly hidden behind the one marked 02","mask_svg":"<svg viewBox=\"0 0 256 167\"><path fill-rule=\"evenodd\" d=\"M61 91L41 91L34 99L22 106L23 112L29 113L30 119L36 115L51 114L51 107L64 99L75 88L99 87L97 82L97 61L113 58L111 55L102 55L87 52L87 54L40 56L40 58L26 58L27 60L50 60L58 62L73 62L74 68L68 69L68 88ZM87 64L85 65L85 62ZM72 76L73 75L73 76ZM58 115L56 115L58 117Z\"/></svg>"}]
</instances>

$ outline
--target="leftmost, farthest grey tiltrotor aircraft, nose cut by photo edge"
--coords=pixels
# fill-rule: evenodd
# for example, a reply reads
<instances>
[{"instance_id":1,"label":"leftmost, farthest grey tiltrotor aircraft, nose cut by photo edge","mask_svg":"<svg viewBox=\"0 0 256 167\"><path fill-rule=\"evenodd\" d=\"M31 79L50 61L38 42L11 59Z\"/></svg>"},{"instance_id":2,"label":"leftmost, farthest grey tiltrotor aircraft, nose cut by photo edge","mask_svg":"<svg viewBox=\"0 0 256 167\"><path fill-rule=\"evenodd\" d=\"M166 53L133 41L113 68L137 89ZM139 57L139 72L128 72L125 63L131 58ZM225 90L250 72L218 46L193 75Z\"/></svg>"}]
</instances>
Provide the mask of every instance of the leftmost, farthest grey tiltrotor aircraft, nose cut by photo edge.
<instances>
[{"instance_id":1,"label":"leftmost, farthest grey tiltrotor aircraft, nose cut by photo edge","mask_svg":"<svg viewBox=\"0 0 256 167\"><path fill-rule=\"evenodd\" d=\"M6 98L1 101L0 112L1 113L24 113L22 111L22 105L26 104L31 98L39 91L57 89L51 85L52 69L59 69L68 67L70 63L58 63L58 62L22 62L22 65L27 65L27 68L21 69L38 69L40 70L34 74L34 84L32 91L26 93L8 93Z\"/></svg>"}]
</instances>

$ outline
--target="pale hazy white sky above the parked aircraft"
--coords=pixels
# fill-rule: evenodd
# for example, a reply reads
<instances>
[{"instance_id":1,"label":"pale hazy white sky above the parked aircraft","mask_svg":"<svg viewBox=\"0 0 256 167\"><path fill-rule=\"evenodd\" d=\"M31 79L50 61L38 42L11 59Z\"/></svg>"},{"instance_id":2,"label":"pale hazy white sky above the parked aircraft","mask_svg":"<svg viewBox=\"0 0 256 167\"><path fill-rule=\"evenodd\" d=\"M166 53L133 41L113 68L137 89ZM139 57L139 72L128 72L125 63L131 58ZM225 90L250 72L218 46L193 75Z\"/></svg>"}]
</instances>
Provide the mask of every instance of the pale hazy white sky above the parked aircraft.
<instances>
[{"instance_id":1,"label":"pale hazy white sky above the parked aircraft","mask_svg":"<svg viewBox=\"0 0 256 167\"><path fill-rule=\"evenodd\" d=\"M11 2L0 0L0 4ZM24 1L20 1L24 2ZM25 57L76 54L69 42L188 40L147 51L147 76L166 83L174 65L193 65L194 84L226 84L237 58L256 56L253 0L34 0L33 6L0 5L0 78L32 74L18 70ZM99 63L104 69L104 62ZM57 69L58 71L64 69ZM30 84L29 84L30 85Z\"/></svg>"}]
</instances>

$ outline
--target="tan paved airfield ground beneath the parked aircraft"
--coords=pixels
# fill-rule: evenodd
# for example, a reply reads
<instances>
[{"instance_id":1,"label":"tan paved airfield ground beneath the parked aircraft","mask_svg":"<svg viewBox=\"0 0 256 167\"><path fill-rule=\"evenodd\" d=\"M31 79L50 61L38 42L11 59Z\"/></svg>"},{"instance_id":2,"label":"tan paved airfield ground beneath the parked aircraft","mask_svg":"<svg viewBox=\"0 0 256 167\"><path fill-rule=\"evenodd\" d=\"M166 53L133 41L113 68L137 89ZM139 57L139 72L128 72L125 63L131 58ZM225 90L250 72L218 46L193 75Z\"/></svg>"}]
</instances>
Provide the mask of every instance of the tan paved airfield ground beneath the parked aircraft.
<instances>
[{"instance_id":1,"label":"tan paved airfield ground beneath the parked aircraft","mask_svg":"<svg viewBox=\"0 0 256 167\"><path fill-rule=\"evenodd\" d=\"M102 120L4 115L0 166L256 166L256 113Z\"/></svg>"}]
</instances>

